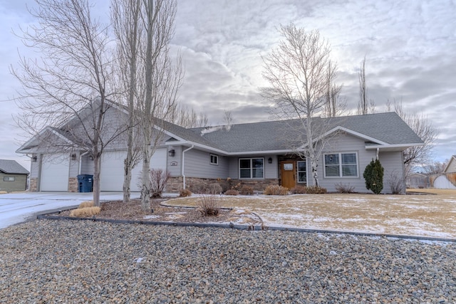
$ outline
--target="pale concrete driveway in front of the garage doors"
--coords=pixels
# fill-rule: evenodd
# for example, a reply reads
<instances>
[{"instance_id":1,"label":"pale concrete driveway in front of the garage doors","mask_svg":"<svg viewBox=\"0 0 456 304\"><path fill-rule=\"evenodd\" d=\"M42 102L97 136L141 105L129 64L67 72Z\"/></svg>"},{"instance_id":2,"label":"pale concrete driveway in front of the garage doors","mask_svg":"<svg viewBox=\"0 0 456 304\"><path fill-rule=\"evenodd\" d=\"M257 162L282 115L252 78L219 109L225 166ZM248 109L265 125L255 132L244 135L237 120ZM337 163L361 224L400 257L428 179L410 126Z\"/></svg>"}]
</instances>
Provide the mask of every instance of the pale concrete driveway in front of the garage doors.
<instances>
[{"instance_id":1,"label":"pale concrete driveway in front of the garage doors","mask_svg":"<svg viewBox=\"0 0 456 304\"><path fill-rule=\"evenodd\" d=\"M140 193L131 194L133 199ZM101 192L100 201L122 199L122 192ZM70 192L24 192L0 194L0 229L23 221L36 219L38 214L46 214L60 209L70 209L83 201L93 200L93 193Z\"/></svg>"}]
</instances>

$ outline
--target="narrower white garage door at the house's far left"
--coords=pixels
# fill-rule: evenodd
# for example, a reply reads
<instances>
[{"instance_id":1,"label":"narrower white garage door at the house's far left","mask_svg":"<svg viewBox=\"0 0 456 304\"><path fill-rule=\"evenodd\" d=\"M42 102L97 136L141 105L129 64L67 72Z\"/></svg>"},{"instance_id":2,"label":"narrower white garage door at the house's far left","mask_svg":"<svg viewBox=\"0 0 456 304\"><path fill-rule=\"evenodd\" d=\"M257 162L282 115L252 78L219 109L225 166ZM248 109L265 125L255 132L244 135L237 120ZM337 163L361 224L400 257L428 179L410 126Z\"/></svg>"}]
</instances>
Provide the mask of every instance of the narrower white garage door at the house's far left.
<instances>
[{"instance_id":1,"label":"narrower white garage door at the house's far left","mask_svg":"<svg viewBox=\"0 0 456 304\"><path fill-rule=\"evenodd\" d=\"M70 157L68 154L45 154L41 164L41 191L68 191Z\"/></svg>"}]
</instances>

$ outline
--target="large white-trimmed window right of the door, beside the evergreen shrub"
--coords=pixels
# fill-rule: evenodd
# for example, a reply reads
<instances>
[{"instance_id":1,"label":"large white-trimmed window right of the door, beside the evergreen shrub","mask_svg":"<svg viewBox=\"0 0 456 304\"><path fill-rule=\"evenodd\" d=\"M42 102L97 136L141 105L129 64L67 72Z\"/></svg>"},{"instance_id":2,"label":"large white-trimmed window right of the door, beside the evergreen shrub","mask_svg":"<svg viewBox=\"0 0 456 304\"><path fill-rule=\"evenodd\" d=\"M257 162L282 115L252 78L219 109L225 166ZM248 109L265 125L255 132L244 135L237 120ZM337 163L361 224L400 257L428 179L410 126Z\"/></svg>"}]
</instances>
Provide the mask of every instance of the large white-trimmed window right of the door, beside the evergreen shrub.
<instances>
[{"instance_id":1,"label":"large white-trimmed window right of the door, beside the evergreen shrub","mask_svg":"<svg viewBox=\"0 0 456 304\"><path fill-rule=\"evenodd\" d=\"M356 153L324 154L325 177L358 177Z\"/></svg>"}]
</instances>

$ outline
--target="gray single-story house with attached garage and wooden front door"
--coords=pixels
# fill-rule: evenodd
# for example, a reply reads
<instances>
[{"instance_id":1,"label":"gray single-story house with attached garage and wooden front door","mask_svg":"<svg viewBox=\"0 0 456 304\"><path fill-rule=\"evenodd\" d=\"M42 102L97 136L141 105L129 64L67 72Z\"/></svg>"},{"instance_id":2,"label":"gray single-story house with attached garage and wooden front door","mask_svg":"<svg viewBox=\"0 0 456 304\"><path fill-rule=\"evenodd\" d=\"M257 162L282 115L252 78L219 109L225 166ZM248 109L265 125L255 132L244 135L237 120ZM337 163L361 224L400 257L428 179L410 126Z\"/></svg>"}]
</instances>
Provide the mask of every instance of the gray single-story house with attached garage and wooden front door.
<instances>
[{"instance_id":1,"label":"gray single-story house with attached garage and wooden front door","mask_svg":"<svg viewBox=\"0 0 456 304\"><path fill-rule=\"evenodd\" d=\"M126 115L123 108L115 108L119 119ZM326 135L330 142L318 159L321 187L336 191L338 183L350 184L356 192L368 192L363 172L372 159L378 157L385 168L384 193L390 192L388 177L395 175L403 182L405 174L403 150L423 141L395 112L348 117L318 118L316 122L331 122L333 128ZM167 192L178 192L195 184L209 184L220 179L246 184L257 191L269 184L293 188L312 184L311 167L291 148L296 145L296 134L290 123L299 121L254 122L229 127L185 129L164 122L165 137L150 162L151 168L167 169L171 179ZM56 140L71 141L65 127L48 130ZM17 150L31 159L32 191L77 191L77 175L93 174L93 161L76 146L72 152L59 153L38 148L38 137L33 137ZM122 191L125 140L107 147L103 152L100 170L101 191ZM140 164L133 169L132 191L139 191Z\"/></svg>"}]
</instances>

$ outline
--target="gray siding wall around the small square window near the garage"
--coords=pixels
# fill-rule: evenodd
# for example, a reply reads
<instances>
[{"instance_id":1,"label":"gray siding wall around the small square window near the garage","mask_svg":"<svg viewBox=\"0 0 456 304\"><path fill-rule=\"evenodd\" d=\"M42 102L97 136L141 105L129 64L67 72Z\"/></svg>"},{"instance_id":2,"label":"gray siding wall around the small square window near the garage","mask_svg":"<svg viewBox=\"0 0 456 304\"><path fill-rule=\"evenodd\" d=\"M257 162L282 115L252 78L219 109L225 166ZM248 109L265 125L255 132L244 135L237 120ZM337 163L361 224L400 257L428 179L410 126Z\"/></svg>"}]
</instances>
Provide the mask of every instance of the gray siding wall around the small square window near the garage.
<instances>
[{"instance_id":1,"label":"gray siding wall around the small square window near the garage","mask_svg":"<svg viewBox=\"0 0 456 304\"><path fill-rule=\"evenodd\" d=\"M185 152L185 176L207 179L228 177L229 160L227 157L219 155L219 164L211 164L210 154L213 153L196 149Z\"/></svg>"}]
</instances>

